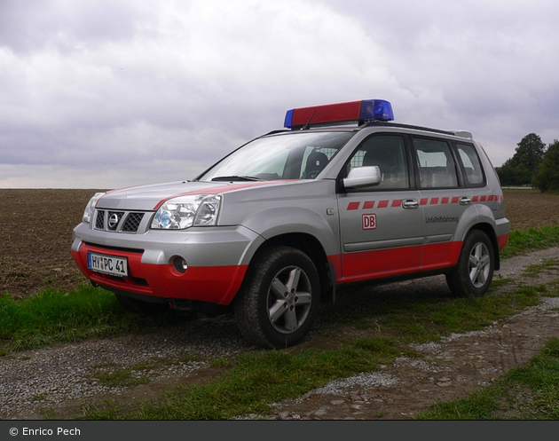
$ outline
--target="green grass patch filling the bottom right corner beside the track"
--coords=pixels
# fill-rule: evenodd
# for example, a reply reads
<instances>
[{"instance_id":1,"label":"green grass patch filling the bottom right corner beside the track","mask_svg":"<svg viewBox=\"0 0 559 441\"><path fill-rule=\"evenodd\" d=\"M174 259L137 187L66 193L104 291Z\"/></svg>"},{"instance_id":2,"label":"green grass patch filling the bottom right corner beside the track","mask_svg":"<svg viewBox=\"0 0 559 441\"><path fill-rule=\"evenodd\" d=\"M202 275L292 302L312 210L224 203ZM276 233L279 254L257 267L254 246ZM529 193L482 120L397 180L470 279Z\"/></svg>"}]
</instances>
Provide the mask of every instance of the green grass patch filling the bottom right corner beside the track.
<instances>
[{"instance_id":1,"label":"green grass patch filling the bottom right corner beside the track","mask_svg":"<svg viewBox=\"0 0 559 441\"><path fill-rule=\"evenodd\" d=\"M508 371L491 386L455 401L438 402L418 420L558 420L559 338L527 366Z\"/></svg>"}]
</instances>

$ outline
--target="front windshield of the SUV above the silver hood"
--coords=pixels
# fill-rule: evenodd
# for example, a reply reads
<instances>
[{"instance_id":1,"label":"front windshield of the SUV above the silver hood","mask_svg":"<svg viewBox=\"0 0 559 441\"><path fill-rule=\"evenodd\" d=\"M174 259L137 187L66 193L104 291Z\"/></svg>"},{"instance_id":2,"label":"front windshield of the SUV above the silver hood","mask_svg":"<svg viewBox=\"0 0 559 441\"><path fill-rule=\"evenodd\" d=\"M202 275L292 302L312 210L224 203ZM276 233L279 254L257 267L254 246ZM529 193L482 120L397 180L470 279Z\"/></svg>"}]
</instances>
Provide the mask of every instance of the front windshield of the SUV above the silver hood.
<instances>
[{"instance_id":1,"label":"front windshield of the SUV above the silver hood","mask_svg":"<svg viewBox=\"0 0 559 441\"><path fill-rule=\"evenodd\" d=\"M197 180L314 179L354 132L291 132L255 139Z\"/></svg>"}]
</instances>

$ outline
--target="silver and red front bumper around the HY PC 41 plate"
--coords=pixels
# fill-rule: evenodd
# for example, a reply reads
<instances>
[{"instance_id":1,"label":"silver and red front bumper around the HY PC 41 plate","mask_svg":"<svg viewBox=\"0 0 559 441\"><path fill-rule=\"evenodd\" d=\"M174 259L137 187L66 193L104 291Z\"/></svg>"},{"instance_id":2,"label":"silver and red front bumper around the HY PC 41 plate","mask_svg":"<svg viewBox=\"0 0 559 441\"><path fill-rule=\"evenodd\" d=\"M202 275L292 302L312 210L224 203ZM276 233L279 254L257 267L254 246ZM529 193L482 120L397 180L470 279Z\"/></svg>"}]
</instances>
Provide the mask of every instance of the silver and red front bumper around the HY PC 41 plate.
<instances>
[{"instance_id":1,"label":"silver and red front bumper around the HY PC 41 plate","mask_svg":"<svg viewBox=\"0 0 559 441\"><path fill-rule=\"evenodd\" d=\"M244 227L122 234L80 224L74 230L72 256L89 280L114 292L226 305L247 272L250 250L262 241ZM91 271L88 252L126 257L128 277ZM177 256L185 259L185 272L173 266Z\"/></svg>"}]
</instances>

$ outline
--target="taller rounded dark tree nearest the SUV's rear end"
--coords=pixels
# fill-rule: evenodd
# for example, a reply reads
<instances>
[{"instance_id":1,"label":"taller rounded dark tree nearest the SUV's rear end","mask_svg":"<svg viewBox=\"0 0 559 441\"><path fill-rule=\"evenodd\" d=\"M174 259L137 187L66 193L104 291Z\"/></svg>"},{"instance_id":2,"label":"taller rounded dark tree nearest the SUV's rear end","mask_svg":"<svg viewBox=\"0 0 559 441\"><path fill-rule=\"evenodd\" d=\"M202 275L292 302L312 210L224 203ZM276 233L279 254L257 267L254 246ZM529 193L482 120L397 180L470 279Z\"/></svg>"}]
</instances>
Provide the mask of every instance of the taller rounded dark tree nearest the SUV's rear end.
<instances>
[{"instance_id":1,"label":"taller rounded dark tree nearest the SUV's rear end","mask_svg":"<svg viewBox=\"0 0 559 441\"><path fill-rule=\"evenodd\" d=\"M539 162L546 153L546 145L535 133L526 135L516 145L512 158L497 170L501 185L530 185Z\"/></svg>"}]
</instances>

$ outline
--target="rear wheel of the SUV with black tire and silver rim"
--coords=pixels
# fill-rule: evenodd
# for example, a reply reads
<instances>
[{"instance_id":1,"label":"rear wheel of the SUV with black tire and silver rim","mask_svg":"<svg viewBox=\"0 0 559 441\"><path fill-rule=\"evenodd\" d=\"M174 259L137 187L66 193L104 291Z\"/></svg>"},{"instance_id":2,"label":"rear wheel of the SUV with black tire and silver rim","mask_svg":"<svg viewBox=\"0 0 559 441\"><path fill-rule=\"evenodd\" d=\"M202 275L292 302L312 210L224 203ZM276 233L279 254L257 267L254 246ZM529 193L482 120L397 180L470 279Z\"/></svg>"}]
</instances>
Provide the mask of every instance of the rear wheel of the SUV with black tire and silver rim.
<instances>
[{"instance_id":1,"label":"rear wheel of the SUV with black tire and silver rim","mask_svg":"<svg viewBox=\"0 0 559 441\"><path fill-rule=\"evenodd\" d=\"M468 233L458 264L446 274L446 283L454 295L484 295L493 279L495 253L487 234L481 230Z\"/></svg>"}]
</instances>

